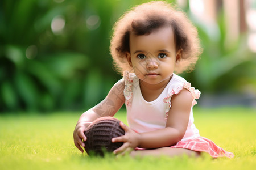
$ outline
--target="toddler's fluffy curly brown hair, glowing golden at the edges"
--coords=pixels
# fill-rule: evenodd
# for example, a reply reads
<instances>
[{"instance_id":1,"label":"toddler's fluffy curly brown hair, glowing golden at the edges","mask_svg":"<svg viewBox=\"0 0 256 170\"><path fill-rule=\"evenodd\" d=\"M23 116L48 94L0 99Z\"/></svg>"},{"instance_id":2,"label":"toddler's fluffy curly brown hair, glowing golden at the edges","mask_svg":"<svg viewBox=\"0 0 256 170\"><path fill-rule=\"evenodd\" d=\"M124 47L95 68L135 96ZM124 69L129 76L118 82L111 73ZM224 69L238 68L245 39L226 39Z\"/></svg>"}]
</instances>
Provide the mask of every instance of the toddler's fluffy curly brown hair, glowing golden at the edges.
<instances>
[{"instance_id":1,"label":"toddler's fluffy curly brown hair, glowing golden at the edges","mask_svg":"<svg viewBox=\"0 0 256 170\"><path fill-rule=\"evenodd\" d=\"M126 53L130 52L130 34L149 35L162 27L172 28L176 50L182 49L181 61L175 67L175 73L193 70L202 52L196 27L184 12L175 10L169 3L151 1L131 8L114 24L110 53L119 74L132 70L126 58Z\"/></svg>"}]
</instances>

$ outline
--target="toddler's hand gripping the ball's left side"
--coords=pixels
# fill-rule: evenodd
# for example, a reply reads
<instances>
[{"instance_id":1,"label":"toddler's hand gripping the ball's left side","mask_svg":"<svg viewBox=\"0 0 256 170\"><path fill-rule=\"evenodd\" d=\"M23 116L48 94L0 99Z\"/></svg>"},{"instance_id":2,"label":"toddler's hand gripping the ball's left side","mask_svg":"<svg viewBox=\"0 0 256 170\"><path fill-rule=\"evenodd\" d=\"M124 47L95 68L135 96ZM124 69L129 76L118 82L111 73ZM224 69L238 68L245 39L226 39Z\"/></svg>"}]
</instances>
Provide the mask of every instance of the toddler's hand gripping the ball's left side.
<instances>
[{"instance_id":1,"label":"toddler's hand gripping the ball's left side","mask_svg":"<svg viewBox=\"0 0 256 170\"><path fill-rule=\"evenodd\" d=\"M86 136L84 134L86 128L91 124L90 122L80 122L76 125L76 128L73 133L75 146L83 153L85 147L84 141L86 141Z\"/></svg>"}]
</instances>

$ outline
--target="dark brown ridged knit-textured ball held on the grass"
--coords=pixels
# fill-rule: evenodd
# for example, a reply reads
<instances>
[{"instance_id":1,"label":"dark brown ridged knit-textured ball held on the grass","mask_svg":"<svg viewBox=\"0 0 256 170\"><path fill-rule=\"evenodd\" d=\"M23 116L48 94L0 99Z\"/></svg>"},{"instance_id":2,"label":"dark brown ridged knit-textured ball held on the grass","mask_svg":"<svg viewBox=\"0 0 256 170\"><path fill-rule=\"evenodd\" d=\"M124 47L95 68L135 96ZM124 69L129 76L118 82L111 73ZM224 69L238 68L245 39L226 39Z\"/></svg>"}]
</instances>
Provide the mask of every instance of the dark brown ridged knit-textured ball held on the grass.
<instances>
[{"instance_id":1,"label":"dark brown ridged knit-textured ball held on the grass","mask_svg":"<svg viewBox=\"0 0 256 170\"><path fill-rule=\"evenodd\" d=\"M112 138L125 135L119 125L120 121L114 117L101 117L92 122L85 131L85 151L88 155L104 155L104 152L113 152L123 145L123 142L111 141Z\"/></svg>"}]
</instances>

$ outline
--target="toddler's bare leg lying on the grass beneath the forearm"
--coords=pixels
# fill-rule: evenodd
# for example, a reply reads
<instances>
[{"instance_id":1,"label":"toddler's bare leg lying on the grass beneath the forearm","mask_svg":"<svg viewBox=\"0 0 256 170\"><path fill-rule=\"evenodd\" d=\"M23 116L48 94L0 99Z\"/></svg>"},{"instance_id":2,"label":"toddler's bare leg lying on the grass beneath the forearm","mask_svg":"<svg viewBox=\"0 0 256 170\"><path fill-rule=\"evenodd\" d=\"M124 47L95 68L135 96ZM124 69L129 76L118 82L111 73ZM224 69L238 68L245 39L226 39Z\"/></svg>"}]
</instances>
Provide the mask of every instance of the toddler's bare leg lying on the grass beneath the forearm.
<instances>
[{"instance_id":1,"label":"toddler's bare leg lying on the grass beneath the forearm","mask_svg":"<svg viewBox=\"0 0 256 170\"><path fill-rule=\"evenodd\" d=\"M200 152L187 150L185 148L170 148L162 147L153 150L134 150L130 153L131 156L200 156Z\"/></svg>"}]
</instances>

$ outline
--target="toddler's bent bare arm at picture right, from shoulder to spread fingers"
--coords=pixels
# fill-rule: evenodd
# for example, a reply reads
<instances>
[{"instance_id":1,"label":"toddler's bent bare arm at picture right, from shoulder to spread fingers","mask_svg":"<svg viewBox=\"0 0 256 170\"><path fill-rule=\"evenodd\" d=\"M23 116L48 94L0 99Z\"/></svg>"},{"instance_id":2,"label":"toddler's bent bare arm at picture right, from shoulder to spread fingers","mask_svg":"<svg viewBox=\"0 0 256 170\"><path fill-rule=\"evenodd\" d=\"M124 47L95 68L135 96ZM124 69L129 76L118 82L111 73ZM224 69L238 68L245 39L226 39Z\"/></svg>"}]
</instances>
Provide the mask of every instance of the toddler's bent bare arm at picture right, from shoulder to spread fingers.
<instances>
[{"instance_id":1,"label":"toddler's bent bare arm at picture right, from shoulder to spread fingers","mask_svg":"<svg viewBox=\"0 0 256 170\"><path fill-rule=\"evenodd\" d=\"M121 124L126 131L126 135L113 138L113 142L124 142L123 146L115 150L115 153L121 153L127 148L159 148L175 145L179 142L187 130L189 113L192 106L192 95L186 89L179 94L172 96L171 105L166 128L147 133L135 133L126 125Z\"/></svg>"}]
</instances>

